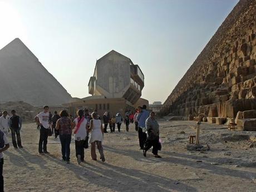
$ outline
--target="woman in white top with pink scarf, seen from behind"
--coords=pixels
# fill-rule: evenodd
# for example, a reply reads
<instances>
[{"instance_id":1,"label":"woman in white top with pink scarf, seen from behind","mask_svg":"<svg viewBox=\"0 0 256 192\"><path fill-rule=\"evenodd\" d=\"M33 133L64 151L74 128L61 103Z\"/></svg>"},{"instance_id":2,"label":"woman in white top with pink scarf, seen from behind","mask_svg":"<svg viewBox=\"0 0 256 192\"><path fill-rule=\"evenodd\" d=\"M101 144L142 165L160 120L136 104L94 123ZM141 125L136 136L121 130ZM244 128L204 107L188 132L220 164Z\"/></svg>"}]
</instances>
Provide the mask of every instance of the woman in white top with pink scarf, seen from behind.
<instances>
[{"instance_id":1,"label":"woman in white top with pink scarf, seen from behind","mask_svg":"<svg viewBox=\"0 0 256 192\"><path fill-rule=\"evenodd\" d=\"M87 120L83 116L83 110L77 111L78 117L74 120L76 127L75 127L75 146L76 146L76 157L77 163L80 164L81 161L85 161L85 149L83 145L86 141L87 136Z\"/></svg>"}]
</instances>

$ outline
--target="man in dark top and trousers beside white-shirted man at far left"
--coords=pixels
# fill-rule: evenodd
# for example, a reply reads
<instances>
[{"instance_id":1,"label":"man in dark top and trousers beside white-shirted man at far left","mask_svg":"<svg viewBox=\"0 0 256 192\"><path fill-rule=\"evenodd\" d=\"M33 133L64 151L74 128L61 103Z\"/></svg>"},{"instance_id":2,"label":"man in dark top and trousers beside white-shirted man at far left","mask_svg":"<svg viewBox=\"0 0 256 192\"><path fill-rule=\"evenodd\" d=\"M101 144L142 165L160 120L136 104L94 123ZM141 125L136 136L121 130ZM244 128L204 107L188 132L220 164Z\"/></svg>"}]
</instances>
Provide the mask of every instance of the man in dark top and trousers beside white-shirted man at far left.
<instances>
[{"instance_id":1,"label":"man in dark top and trousers beside white-shirted man at far left","mask_svg":"<svg viewBox=\"0 0 256 192\"><path fill-rule=\"evenodd\" d=\"M12 132L12 144L13 144L13 147L16 149L18 147L22 148L23 146L21 145L21 134L19 133L22 127L21 117L16 115L15 110L12 110L11 113L12 113L12 116L9 119L9 127ZM15 134L17 135L17 142L16 142ZM17 143L18 143L18 147L17 147Z\"/></svg>"}]
</instances>

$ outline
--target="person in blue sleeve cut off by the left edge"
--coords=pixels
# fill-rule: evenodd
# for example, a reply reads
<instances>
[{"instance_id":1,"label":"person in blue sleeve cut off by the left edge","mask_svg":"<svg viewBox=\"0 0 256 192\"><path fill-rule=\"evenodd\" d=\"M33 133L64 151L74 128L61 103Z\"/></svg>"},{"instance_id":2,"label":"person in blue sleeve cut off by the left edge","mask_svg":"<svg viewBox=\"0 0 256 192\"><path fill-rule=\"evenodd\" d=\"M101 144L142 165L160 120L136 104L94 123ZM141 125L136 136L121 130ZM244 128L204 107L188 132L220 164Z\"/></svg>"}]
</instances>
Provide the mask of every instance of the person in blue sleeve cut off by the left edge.
<instances>
[{"instance_id":1,"label":"person in blue sleeve cut off by the left edge","mask_svg":"<svg viewBox=\"0 0 256 192\"><path fill-rule=\"evenodd\" d=\"M9 148L9 141L6 134L0 130L0 191L3 192L3 151Z\"/></svg>"}]
</instances>

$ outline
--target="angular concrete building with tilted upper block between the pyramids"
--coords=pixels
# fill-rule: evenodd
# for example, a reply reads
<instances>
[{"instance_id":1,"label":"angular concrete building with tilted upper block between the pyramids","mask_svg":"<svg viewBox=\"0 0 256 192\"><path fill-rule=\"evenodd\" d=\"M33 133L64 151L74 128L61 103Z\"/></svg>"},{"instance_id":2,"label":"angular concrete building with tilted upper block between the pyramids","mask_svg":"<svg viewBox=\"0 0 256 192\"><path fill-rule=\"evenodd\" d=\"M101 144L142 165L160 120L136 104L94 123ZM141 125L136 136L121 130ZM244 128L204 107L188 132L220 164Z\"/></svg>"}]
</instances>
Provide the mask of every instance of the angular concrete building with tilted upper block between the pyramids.
<instances>
[{"instance_id":1,"label":"angular concrete building with tilted upper block between the pyramids","mask_svg":"<svg viewBox=\"0 0 256 192\"><path fill-rule=\"evenodd\" d=\"M100 115L105 111L110 115L117 112L125 114L134 111L138 104L149 106L149 102L140 99L144 87L144 75L138 65L130 58L112 50L96 61L93 76L88 82L88 92L92 95L81 101L66 104L75 109L97 109Z\"/></svg>"}]
</instances>

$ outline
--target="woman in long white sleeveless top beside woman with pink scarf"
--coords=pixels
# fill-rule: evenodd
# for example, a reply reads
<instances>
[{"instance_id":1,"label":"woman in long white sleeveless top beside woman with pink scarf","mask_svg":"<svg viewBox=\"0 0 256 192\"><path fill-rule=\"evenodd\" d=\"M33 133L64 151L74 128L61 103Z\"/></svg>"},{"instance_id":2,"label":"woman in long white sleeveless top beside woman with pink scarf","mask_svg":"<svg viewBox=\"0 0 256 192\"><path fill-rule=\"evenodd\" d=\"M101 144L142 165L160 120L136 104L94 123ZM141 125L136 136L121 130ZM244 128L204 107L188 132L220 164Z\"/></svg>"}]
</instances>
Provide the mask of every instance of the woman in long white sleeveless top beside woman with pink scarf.
<instances>
[{"instance_id":1,"label":"woman in long white sleeveless top beside woman with pink scarf","mask_svg":"<svg viewBox=\"0 0 256 192\"><path fill-rule=\"evenodd\" d=\"M92 160L97 160L96 149L95 149L97 144L97 148L100 152L100 159L104 162L105 157L103 154L103 147L102 147L103 127L101 124L101 120L99 120L99 115L96 112L92 113L92 120L90 121L89 131L91 131L90 144L91 144Z\"/></svg>"}]
</instances>

